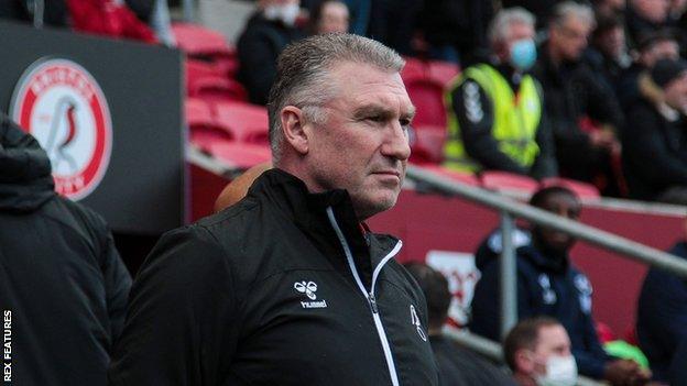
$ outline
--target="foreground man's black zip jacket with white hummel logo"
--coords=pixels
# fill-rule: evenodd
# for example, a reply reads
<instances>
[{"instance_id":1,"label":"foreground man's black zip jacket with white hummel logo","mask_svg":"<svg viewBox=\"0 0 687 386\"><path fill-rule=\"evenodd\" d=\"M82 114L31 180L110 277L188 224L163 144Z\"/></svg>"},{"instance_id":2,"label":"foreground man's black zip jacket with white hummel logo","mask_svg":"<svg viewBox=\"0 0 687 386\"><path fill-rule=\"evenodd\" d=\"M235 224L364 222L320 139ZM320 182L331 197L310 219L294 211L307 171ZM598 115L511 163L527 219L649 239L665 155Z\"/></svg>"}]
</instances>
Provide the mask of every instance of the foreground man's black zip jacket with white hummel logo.
<instances>
[{"instance_id":1,"label":"foreground man's black zip jacket with white hummel logo","mask_svg":"<svg viewBox=\"0 0 687 386\"><path fill-rule=\"evenodd\" d=\"M378 386L392 370L401 385L436 385L425 299L392 258L400 247L363 235L346 191L312 195L265 172L151 252L111 385Z\"/></svg>"}]
</instances>

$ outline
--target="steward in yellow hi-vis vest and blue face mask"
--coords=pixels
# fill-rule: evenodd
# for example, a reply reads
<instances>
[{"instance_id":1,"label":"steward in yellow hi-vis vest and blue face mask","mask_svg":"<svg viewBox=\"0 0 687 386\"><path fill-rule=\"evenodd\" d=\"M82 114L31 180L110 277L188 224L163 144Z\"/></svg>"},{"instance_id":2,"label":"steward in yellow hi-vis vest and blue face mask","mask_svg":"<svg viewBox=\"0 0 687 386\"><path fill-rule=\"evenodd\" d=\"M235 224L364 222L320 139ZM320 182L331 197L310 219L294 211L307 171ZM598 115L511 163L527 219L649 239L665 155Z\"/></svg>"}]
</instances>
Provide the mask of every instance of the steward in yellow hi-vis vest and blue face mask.
<instances>
[{"instance_id":1,"label":"steward in yellow hi-vis vest and blue face mask","mask_svg":"<svg viewBox=\"0 0 687 386\"><path fill-rule=\"evenodd\" d=\"M534 64L534 18L515 8L490 27L493 64L467 68L446 96L445 166L468 173L505 170L535 178L557 174Z\"/></svg>"}]
</instances>

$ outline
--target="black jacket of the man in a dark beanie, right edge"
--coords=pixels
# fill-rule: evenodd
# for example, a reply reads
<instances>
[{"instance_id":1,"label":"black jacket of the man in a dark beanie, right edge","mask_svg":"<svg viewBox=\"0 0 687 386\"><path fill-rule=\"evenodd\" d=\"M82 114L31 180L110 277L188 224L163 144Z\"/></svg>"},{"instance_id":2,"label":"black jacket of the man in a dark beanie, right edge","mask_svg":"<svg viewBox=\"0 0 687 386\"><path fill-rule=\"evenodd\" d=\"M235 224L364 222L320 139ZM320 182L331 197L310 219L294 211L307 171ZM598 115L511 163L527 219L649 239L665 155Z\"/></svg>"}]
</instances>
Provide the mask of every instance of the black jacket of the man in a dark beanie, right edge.
<instances>
[{"instance_id":1,"label":"black jacket of the man in a dark beanie, right edge","mask_svg":"<svg viewBox=\"0 0 687 386\"><path fill-rule=\"evenodd\" d=\"M623 170L630 196L654 200L675 186L687 186L687 121L670 122L651 102L640 100L621 132Z\"/></svg>"}]
</instances>

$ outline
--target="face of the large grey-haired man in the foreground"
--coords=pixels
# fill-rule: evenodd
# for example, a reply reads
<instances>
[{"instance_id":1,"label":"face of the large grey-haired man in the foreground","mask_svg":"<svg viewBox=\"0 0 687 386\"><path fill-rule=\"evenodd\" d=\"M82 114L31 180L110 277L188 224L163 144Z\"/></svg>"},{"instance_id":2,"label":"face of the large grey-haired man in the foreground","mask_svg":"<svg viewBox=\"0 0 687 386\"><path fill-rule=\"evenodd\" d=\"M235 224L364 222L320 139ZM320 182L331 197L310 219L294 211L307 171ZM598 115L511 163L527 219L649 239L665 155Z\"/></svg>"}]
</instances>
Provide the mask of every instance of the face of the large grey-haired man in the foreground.
<instances>
[{"instance_id":1,"label":"face of the large grey-haired man in the foreground","mask_svg":"<svg viewBox=\"0 0 687 386\"><path fill-rule=\"evenodd\" d=\"M348 190L356 214L364 220L396 202L415 108L397 73L341 63L330 79L338 95L325 103L326 122L304 129L306 173L313 190Z\"/></svg>"}]
</instances>

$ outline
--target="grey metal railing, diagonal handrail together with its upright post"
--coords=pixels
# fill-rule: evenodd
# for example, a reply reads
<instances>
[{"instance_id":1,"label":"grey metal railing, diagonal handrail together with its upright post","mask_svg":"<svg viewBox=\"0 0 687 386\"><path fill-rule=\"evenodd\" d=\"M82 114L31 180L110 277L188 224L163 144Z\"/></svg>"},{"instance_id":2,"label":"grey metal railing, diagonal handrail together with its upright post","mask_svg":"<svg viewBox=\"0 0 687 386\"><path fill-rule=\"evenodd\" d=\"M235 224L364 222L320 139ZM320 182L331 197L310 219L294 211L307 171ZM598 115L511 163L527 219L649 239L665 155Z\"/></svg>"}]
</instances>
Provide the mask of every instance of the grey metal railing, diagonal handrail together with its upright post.
<instances>
[{"instance_id":1,"label":"grey metal railing, diagonal handrail together with its upright post","mask_svg":"<svg viewBox=\"0 0 687 386\"><path fill-rule=\"evenodd\" d=\"M517 321L516 257L511 238L516 218L525 219L531 223L550 228L559 232L565 232L578 240L586 241L590 244L621 254L628 258L643 264L648 264L654 267L659 267L679 275L680 277L687 278L687 262L663 251L658 251L613 233L609 233L598 228L585 225L577 221L533 208L528 205L519 202L493 191L456 183L417 166L408 165L406 175L411 179L422 181L424 186L432 187L445 194L461 197L500 212L501 240L503 243L503 250L500 258L500 308L502 337L504 337ZM460 337L464 341L472 341L472 343L475 343L478 348L484 346L484 342L482 341L493 343L484 339L478 339L478 337L470 333L461 334ZM499 350L499 354L497 356L500 359L500 345L497 343L493 344L495 344Z\"/></svg>"}]
</instances>

